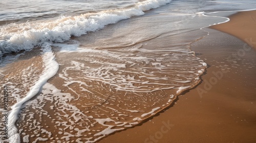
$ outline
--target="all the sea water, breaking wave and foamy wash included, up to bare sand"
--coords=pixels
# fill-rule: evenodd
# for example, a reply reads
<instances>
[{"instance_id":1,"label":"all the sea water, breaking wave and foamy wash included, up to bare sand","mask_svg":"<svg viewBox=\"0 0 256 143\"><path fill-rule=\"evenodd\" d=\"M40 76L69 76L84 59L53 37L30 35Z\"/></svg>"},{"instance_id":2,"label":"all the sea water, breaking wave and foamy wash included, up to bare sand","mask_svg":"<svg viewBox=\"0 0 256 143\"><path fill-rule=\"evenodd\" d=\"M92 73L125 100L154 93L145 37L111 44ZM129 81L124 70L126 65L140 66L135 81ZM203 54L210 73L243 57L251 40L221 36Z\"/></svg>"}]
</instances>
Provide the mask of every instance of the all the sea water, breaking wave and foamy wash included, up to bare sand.
<instances>
[{"instance_id":1,"label":"all the sea water, breaking wave and foamy wash included, up to bare sand","mask_svg":"<svg viewBox=\"0 0 256 143\"><path fill-rule=\"evenodd\" d=\"M205 27L228 21L223 13L255 9L256 2L11 0L0 6L2 98L8 89L7 108L0 101L0 141L96 142L146 122L199 84L207 63L190 44L210 34Z\"/></svg>"}]
</instances>

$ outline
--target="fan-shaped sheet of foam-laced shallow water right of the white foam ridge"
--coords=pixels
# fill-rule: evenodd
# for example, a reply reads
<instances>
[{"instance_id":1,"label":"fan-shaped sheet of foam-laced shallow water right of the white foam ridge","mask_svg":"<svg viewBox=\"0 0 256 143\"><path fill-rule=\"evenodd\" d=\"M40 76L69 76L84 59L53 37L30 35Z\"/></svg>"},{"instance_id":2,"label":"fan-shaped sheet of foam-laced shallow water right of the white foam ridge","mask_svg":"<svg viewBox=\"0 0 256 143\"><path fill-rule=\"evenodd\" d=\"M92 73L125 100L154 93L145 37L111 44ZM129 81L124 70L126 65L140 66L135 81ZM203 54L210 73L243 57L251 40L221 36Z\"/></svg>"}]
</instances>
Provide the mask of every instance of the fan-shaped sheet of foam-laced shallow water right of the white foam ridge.
<instances>
[{"instance_id":1,"label":"fan-shaped sheet of foam-laced shallow water right of the white foam ridge","mask_svg":"<svg viewBox=\"0 0 256 143\"><path fill-rule=\"evenodd\" d=\"M21 113L25 140L95 142L133 127L198 84L197 71L206 67L188 46L91 49L74 40L54 46L59 71Z\"/></svg>"}]
</instances>

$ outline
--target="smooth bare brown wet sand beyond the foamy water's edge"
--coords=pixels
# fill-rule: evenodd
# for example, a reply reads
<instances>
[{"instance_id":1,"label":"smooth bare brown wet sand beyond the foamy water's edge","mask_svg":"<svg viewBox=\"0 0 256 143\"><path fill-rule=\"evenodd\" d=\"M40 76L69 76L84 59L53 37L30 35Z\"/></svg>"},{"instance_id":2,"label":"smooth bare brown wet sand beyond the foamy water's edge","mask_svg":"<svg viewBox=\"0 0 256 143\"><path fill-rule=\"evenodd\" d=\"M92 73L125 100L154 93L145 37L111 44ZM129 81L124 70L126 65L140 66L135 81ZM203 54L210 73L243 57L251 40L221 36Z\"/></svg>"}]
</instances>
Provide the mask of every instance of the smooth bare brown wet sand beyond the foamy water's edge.
<instances>
[{"instance_id":1,"label":"smooth bare brown wet sand beyond the foamy water's edge","mask_svg":"<svg viewBox=\"0 0 256 143\"><path fill-rule=\"evenodd\" d=\"M255 14L240 12L212 28L256 41ZM150 121L99 142L256 142L256 53L233 36L206 30L210 35L191 45L209 65L203 82Z\"/></svg>"}]
</instances>

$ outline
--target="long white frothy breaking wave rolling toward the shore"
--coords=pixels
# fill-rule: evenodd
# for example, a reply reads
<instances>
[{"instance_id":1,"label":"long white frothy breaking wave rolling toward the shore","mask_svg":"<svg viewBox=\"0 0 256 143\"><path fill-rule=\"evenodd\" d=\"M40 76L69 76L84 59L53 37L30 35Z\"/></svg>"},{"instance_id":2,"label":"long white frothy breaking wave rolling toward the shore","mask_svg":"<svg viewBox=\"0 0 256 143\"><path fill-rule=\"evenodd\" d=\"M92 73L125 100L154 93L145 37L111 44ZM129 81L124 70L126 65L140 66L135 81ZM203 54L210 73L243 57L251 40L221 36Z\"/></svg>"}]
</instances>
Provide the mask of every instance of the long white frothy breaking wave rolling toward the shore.
<instances>
[{"instance_id":1,"label":"long white frothy breaking wave rolling toward the shore","mask_svg":"<svg viewBox=\"0 0 256 143\"><path fill-rule=\"evenodd\" d=\"M0 57L5 53L31 50L34 46L40 46L45 42L63 42L71 36L81 36L122 19L143 15L143 11L157 8L171 1L147 0L138 2L133 7L126 9L61 17L54 21L40 23L12 23L0 29Z\"/></svg>"}]
</instances>

